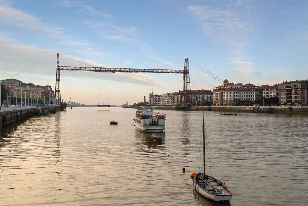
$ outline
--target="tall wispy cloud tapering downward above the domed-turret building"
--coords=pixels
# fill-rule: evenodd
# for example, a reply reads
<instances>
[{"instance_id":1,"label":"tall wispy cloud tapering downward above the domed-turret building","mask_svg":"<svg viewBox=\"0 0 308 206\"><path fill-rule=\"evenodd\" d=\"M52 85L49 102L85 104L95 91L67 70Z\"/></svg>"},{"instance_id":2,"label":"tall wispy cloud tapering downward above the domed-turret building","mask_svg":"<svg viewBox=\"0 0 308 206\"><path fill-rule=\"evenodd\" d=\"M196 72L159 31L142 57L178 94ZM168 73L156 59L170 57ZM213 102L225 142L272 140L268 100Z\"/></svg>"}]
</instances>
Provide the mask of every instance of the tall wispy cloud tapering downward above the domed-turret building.
<instances>
[{"instance_id":1,"label":"tall wispy cloud tapering downward above the domed-turret building","mask_svg":"<svg viewBox=\"0 0 308 206\"><path fill-rule=\"evenodd\" d=\"M214 42L228 50L229 62L235 75L252 74L253 62L246 55L253 19L249 2L230 1L217 7L208 5L188 6L187 11L201 22L201 29Z\"/></svg>"}]
</instances>

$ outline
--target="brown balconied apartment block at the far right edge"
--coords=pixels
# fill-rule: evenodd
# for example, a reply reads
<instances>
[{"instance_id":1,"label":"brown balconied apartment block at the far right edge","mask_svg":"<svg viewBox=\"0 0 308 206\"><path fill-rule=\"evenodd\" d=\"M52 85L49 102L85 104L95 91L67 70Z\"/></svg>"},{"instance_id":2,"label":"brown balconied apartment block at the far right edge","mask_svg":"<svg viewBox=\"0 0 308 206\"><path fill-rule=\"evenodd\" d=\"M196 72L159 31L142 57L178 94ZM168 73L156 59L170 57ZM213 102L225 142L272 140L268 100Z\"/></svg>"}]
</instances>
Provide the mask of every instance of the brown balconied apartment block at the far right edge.
<instances>
[{"instance_id":1,"label":"brown balconied apartment block at the far right edge","mask_svg":"<svg viewBox=\"0 0 308 206\"><path fill-rule=\"evenodd\" d=\"M281 105L299 105L308 101L308 81L283 81L278 86L279 102Z\"/></svg>"}]
</instances>

